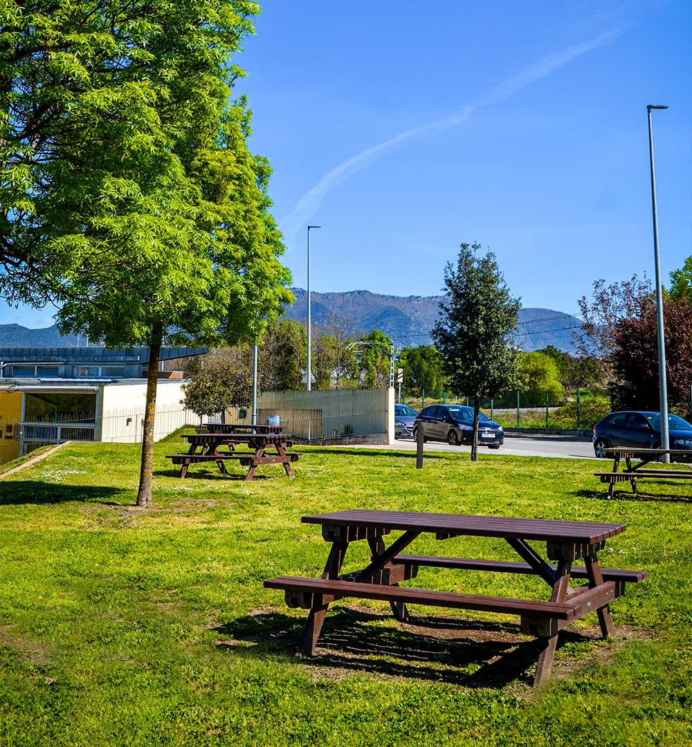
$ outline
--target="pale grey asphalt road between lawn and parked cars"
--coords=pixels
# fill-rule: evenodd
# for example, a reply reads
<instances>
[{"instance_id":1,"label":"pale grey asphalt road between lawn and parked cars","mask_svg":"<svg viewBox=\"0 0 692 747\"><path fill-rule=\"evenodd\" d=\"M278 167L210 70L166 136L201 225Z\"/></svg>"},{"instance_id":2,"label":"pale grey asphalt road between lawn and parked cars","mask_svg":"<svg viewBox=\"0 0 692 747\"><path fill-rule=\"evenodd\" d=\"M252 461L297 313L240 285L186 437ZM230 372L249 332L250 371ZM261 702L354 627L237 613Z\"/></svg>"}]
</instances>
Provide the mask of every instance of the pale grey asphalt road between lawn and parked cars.
<instances>
[{"instance_id":1,"label":"pale grey asphalt road between lawn and parked cars","mask_svg":"<svg viewBox=\"0 0 692 747\"><path fill-rule=\"evenodd\" d=\"M398 438L389 444L402 450L415 451L415 441L411 438ZM465 451L470 453L470 446L450 446L436 441L427 441L426 451ZM504 444L499 449L478 447L479 453L493 455L513 454L516 456L552 456L563 459L595 459L590 438L576 436L511 436L505 434Z\"/></svg>"}]
</instances>

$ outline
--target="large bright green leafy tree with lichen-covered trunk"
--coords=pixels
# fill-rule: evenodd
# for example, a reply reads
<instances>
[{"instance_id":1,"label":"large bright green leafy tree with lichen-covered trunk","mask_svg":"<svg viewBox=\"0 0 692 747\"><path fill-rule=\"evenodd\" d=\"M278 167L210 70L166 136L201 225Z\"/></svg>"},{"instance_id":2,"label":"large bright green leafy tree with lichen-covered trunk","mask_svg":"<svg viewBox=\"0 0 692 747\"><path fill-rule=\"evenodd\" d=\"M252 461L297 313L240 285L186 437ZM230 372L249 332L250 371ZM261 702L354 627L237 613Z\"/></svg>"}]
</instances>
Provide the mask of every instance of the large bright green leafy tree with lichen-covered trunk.
<instances>
[{"instance_id":1,"label":"large bright green leafy tree with lichen-covered trunk","mask_svg":"<svg viewBox=\"0 0 692 747\"><path fill-rule=\"evenodd\" d=\"M149 346L138 504L151 505L161 345L254 338L291 298L232 63L244 0L0 7L0 276L61 331Z\"/></svg>"}]
</instances>

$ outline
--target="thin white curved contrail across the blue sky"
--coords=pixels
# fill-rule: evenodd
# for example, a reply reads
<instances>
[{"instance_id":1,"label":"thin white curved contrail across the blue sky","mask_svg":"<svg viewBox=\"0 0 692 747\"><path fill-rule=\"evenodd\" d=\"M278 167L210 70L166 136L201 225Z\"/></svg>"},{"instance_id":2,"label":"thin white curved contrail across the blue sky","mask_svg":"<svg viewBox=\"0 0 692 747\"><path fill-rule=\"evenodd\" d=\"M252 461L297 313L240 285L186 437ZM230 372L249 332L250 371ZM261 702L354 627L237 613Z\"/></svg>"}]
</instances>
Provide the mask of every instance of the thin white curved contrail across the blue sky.
<instances>
[{"instance_id":1,"label":"thin white curved contrail across the blue sky","mask_svg":"<svg viewBox=\"0 0 692 747\"><path fill-rule=\"evenodd\" d=\"M312 216L314 216L318 211L324 197L327 196L327 193L330 190L333 190L334 187L345 182L346 179L353 176L353 174L362 171L366 166L368 166L368 164L371 164L372 161L384 152L400 146L401 143L405 143L407 140L413 140L414 137L442 132L463 124L472 117L472 114L477 109L497 104L504 101L504 99L508 99L513 95L513 93L518 93L534 81L546 78L554 72L554 70L569 64L572 60L581 57L581 55L586 55L587 52L591 52L593 49L598 49L599 47L610 43L622 33L623 28L613 28L611 31L607 31L605 34L600 34L583 44L577 44L568 49L563 49L562 52L549 55L526 69L523 69L518 75L513 75L512 78L504 81L504 83L492 87L484 96L481 96L481 99L478 99L478 101L473 104L467 105L458 114L453 114L451 117L445 117L442 120L436 120L427 125L421 125L405 132L401 132L401 134L391 137L389 140L377 143L377 145L366 148L353 157L348 158L347 161L344 161L342 164L339 164L339 166L326 173L320 181L312 187L312 189L307 191L298 200L291 213L288 214L284 220L279 221L279 226L282 227L287 241L291 241L297 232L302 229L303 226L306 226Z\"/></svg>"}]
</instances>

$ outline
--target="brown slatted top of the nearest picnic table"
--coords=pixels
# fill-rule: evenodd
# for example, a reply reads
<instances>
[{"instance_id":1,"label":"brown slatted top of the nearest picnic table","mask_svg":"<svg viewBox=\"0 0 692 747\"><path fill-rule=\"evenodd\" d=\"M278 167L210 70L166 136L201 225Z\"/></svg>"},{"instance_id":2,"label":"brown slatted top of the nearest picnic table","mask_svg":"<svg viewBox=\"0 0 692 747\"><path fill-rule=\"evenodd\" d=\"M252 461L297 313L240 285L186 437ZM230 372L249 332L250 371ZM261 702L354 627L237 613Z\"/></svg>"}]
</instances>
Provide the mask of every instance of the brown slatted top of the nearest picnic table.
<instances>
[{"instance_id":1,"label":"brown slatted top of the nearest picnic table","mask_svg":"<svg viewBox=\"0 0 692 747\"><path fill-rule=\"evenodd\" d=\"M608 537L623 533L627 528L626 524L602 524L593 521L365 509L303 516L301 521L306 524L330 526L458 533L504 539L538 539L546 542L585 542L590 545L605 542Z\"/></svg>"}]
</instances>

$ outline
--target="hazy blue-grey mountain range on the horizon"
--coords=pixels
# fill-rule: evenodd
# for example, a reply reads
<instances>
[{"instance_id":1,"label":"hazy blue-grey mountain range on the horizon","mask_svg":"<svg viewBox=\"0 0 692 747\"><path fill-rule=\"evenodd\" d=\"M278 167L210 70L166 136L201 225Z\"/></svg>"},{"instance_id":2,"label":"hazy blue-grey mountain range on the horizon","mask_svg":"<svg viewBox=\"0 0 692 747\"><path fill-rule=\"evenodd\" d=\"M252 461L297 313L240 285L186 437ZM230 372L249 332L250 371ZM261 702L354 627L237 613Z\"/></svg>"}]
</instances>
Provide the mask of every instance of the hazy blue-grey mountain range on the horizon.
<instances>
[{"instance_id":1,"label":"hazy blue-grey mountain range on the horizon","mask_svg":"<svg viewBox=\"0 0 692 747\"><path fill-rule=\"evenodd\" d=\"M307 322L307 293L291 289L295 303L285 318ZM431 343L430 330L437 320L442 296L385 296L371 291L310 294L313 329L328 329L335 322L347 326L351 335L368 334L380 329L397 347L415 347ZM575 351L574 332L581 320L553 309L521 309L516 343L522 350L540 350L547 345L566 353ZM0 356L5 347L79 347L84 338L62 337L55 325L28 329L20 324L0 324Z\"/></svg>"}]
</instances>

